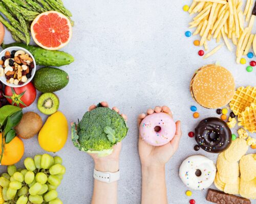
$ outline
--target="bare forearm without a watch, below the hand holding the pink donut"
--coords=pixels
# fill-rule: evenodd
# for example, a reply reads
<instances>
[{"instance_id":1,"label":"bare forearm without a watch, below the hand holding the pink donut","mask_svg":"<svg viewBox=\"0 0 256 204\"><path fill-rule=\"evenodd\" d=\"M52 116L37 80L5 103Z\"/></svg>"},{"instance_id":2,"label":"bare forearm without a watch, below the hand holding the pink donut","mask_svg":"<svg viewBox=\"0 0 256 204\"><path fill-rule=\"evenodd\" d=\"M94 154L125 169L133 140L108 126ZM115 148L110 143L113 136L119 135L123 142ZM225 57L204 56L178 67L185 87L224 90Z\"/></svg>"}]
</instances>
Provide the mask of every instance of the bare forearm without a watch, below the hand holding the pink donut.
<instances>
[{"instance_id":1,"label":"bare forearm without a watch, below the hand holding the pink donut","mask_svg":"<svg viewBox=\"0 0 256 204\"><path fill-rule=\"evenodd\" d=\"M142 204L167 204L165 167L142 166Z\"/></svg>"}]
</instances>

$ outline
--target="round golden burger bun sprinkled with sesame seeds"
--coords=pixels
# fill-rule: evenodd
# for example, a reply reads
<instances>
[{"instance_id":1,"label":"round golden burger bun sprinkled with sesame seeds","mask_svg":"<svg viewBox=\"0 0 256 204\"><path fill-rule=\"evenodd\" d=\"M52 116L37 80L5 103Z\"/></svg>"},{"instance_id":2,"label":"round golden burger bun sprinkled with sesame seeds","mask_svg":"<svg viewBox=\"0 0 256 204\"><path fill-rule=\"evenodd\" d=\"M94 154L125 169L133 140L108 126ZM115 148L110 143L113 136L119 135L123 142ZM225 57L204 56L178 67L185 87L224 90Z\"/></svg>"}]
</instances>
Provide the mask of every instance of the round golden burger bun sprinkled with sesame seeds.
<instances>
[{"instance_id":1,"label":"round golden burger bun sprinkled with sesame seeds","mask_svg":"<svg viewBox=\"0 0 256 204\"><path fill-rule=\"evenodd\" d=\"M227 105L235 92L234 78L225 68L206 65L194 74L190 82L190 93L198 104L216 109Z\"/></svg>"}]
</instances>

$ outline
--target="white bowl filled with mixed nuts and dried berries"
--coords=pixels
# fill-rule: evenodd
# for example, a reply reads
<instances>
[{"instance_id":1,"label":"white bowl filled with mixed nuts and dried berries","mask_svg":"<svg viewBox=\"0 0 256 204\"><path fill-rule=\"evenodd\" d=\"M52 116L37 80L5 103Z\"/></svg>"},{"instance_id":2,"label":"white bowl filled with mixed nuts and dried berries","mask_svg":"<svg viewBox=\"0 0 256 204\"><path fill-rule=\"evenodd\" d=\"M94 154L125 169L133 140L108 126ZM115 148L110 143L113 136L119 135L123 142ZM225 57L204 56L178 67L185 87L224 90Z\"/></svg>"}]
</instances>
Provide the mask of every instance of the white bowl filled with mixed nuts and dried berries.
<instances>
[{"instance_id":1,"label":"white bowl filled with mixed nuts and dried berries","mask_svg":"<svg viewBox=\"0 0 256 204\"><path fill-rule=\"evenodd\" d=\"M0 81L10 87L22 87L34 77L36 63L23 47L8 47L0 53Z\"/></svg>"}]
</instances>

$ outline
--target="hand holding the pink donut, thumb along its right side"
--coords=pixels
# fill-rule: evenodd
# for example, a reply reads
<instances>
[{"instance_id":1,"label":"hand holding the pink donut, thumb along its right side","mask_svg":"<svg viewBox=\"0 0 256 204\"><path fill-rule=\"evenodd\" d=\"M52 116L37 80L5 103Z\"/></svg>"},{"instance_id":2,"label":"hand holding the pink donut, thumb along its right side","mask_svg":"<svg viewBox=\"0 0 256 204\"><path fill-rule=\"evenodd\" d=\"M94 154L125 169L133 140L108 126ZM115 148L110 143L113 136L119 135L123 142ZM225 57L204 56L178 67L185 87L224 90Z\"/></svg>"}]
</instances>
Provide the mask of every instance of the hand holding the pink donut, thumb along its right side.
<instances>
[{"instance_id":1,"label":"hand holding the pink donut, thumb along its right side","mask_svg":"<svg viewBox=\"0 0 256 204\"><path fill-rule=\"evenodd\" d=\"M167 106L155 107L155 109L148 109L147 114L164 112L173 117L172 112ZM141 121L146 117L146 114L140 114L138 116L138 125L140 126ZM179 147L181 138L181 122L176 122L176 133L172 141L163 146L152 146L143 141L142 137L139 136L139 155L142 168L148 167L164 167L169 159L174 155Z\"/></svg>"}]
</instances>

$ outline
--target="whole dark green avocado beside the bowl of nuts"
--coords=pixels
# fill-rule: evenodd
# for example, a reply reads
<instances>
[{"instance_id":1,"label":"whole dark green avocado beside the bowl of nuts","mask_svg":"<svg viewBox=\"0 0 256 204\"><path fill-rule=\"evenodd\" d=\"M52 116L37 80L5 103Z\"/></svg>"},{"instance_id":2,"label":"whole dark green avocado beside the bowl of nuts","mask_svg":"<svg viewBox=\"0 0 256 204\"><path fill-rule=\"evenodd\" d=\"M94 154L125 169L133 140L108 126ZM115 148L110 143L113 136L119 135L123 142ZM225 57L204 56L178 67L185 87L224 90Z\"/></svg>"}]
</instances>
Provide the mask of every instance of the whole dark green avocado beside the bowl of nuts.
<instances>
[{"instance_id":1,"label":"whole dark green avocado beside the bowl of nuts","mask_svg":"<svg viewBox=\"0 0 256 204\"><path fill-rule=\"evenodd\" d=\"M44 67L35 72L33 83L38 91L52 93L67 86L69 75L58 68Z\"/></svg>"}]
</instances>

